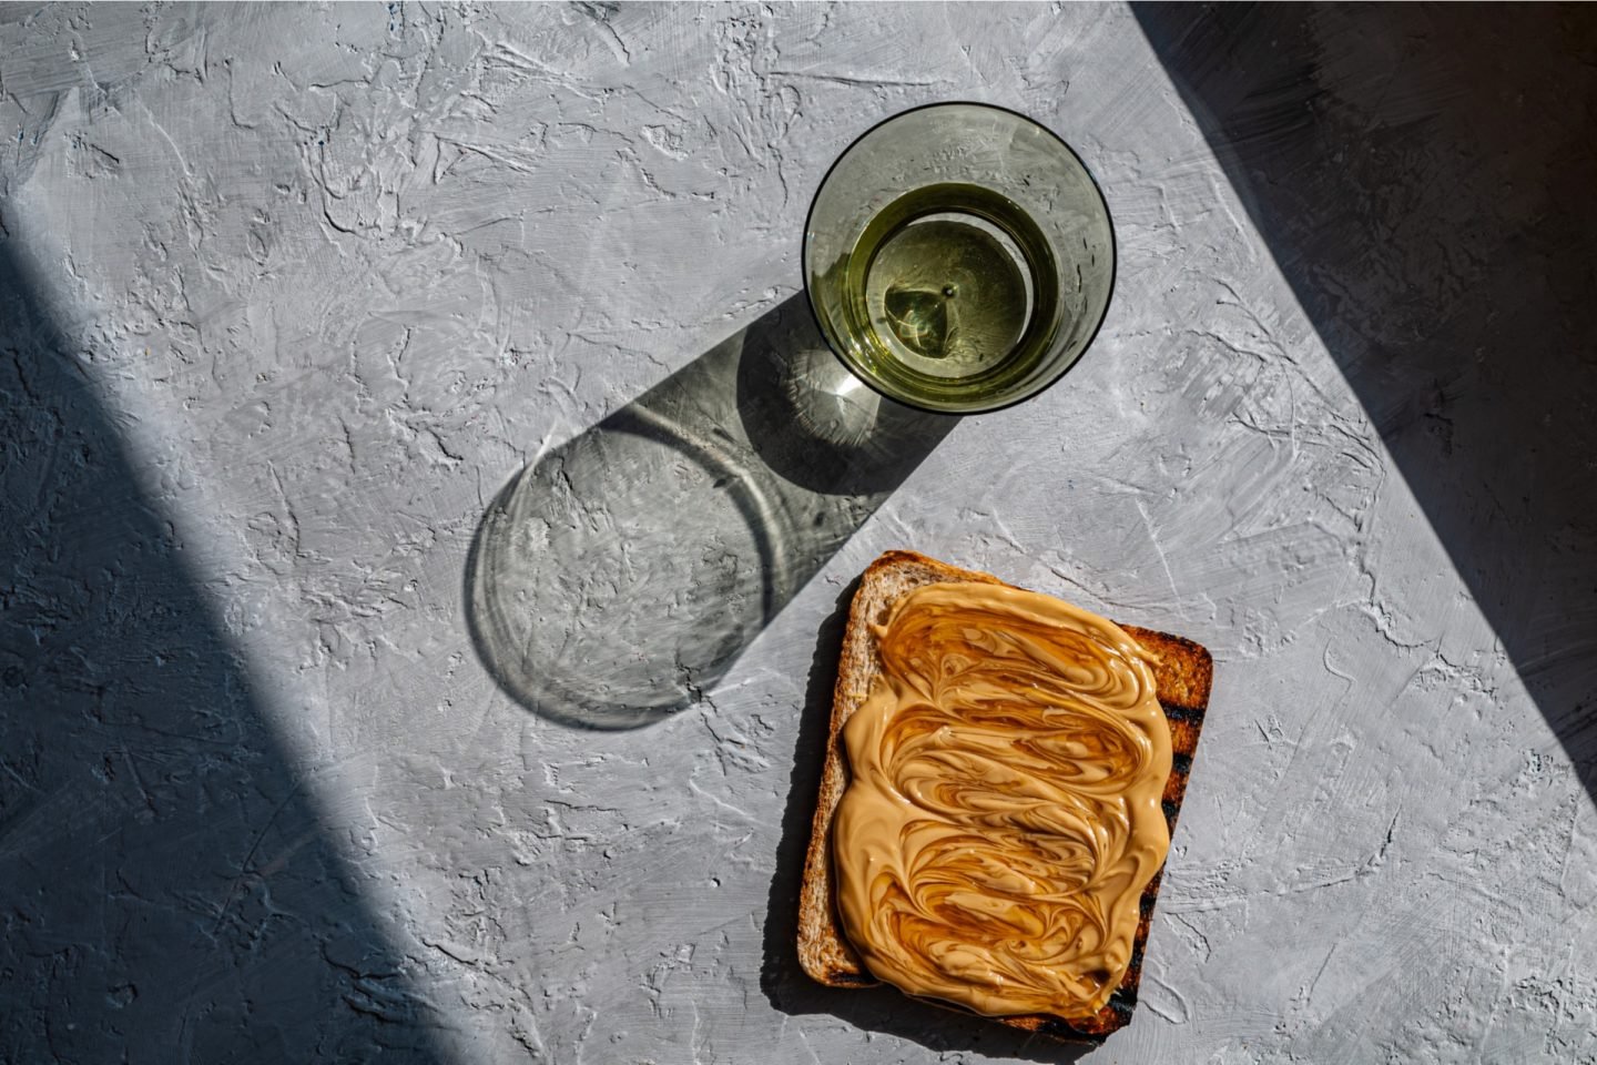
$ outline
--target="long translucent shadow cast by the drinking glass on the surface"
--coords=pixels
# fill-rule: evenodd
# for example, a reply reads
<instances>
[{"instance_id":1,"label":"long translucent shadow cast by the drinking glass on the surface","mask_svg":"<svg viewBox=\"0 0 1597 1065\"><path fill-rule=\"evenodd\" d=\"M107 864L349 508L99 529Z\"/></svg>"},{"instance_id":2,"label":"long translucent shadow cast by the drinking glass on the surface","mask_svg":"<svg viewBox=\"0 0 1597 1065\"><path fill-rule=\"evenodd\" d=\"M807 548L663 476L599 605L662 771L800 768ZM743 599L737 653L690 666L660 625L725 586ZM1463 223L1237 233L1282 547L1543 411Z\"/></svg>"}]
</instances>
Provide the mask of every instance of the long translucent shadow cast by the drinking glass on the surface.
<instances>
[{"instance_id":1,"label":"long translucent shadow cast by the drinking glass on the surface","mask_svg":"<svg viewBox=\"0 0 1597 1065\"><path fill-rule=\"evenodd\" d=\"M478 655L565 725L688 707L953 423L859 383L795 295L511 479L466 564Z\"/></svg>"}]
</instances>

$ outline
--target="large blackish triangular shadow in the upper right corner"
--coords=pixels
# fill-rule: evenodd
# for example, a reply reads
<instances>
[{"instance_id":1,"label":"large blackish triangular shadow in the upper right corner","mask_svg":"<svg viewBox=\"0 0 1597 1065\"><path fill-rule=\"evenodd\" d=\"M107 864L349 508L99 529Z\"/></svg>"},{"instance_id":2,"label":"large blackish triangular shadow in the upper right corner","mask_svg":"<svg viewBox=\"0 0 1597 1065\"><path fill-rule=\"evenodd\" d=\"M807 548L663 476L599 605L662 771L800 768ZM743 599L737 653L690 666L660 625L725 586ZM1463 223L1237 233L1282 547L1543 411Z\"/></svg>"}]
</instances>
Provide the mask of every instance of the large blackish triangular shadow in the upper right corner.
<instances>
[{"instance_id":1,"label":"large blackish triangular shadow in the upper right corner","mask_svg":"<svg viewBox=\"0 0 1597 1065\"><path fill-rule=\"evenodd\" d=\"M1597 10L1135 13L1597 798Z\"/></svg>"}]
</instances>

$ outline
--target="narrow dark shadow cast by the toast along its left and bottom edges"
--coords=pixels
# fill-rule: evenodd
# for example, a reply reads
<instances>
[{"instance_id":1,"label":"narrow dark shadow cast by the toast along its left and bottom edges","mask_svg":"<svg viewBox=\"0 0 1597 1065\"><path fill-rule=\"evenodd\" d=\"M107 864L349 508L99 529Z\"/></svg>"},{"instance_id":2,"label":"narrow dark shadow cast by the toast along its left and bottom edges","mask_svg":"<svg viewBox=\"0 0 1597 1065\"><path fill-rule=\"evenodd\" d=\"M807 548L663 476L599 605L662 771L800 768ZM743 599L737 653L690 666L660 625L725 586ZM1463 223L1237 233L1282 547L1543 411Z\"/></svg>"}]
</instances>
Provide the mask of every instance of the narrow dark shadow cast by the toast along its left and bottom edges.
<instances>
[{"instance_id":1,"label":"narrow dark shadow cast by the toast along its left and bottom edges","mask_svg":"<svg viewBox=\"0 0 1597 1065\"><path fill-rule=\"evenodd\" d=\"M961 1011L939 1009L907 998L891 987L822 987L798 964L798 885L803 880L810 822L814 818L826 741L830 733L838 648L843 645L843 629L848 626L848 605L858 588L858 580L850 583L837 597L837 607L821 623L810 666L794 771L787 784L787 808L783 811L783 833L776 846L776 870L771 873L771 891L765 907L760 990L771 1006L784 1014L830 1014L856 1028L910 1039L937 1054L979 1052L1051 1063L1080 1060L1097 1047L1057 1043Z\"/></svg>"}]
</instances>

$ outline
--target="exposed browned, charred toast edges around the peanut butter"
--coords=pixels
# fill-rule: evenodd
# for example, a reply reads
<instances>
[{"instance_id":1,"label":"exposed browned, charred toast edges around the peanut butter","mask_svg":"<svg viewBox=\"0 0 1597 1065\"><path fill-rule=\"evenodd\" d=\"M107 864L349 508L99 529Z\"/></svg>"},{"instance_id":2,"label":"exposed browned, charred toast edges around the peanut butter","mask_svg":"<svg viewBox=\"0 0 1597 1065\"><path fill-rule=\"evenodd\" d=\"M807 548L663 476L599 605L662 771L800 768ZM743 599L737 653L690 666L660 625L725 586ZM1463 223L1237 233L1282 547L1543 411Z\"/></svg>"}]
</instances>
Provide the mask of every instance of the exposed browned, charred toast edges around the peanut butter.
<instances>
[{"instance_id":1,"label":"exposed browned, charred toast edges around the peanut butter","mask_svg":"<svg viewBox=\"0 0 1597 1065\"><path fill-rule=\"evenodd\" d=\"M854 953L838 926L830 846L832 814L837 811L837 803L850 779L842 741L843 723L866 701L872 683L882 672L870 623L886 621L888 610L901 596L923 584L945 581L1005 583L989 573L961 570L913 551L888 551L866 568L859 580L859 591L854 592L854 602L848 610L848 629L843 632L837 688L832 696L832 728L826 744L826 768L821 774L821 794L810 830L803 885L798 891L798 961L811 979L829 987L869 987L877 982L861 964L859 955ZM1204 709L1209 706L1214 663L1209 651L1191 640L1135 626L1121 628L1153 658L1159 706L1171 723L1172 765L1169 784L1164 787L1164 818L1174 837L1175 816L1180 813L1193 752L1198 749L1198 730L1203 726ZM1131 1011L1137 1004L1142 952L1148 939L1148 923L1153 920L1153 902L1159 894L1161 878L1163 869L1155 873L1142 893L1142 912L1137 921L1131 966L1104 1009L1086 1019L1035 1014L993 1017L993 1020L1057 1039L1075 1041L1100 1041L1129 1023ZM950 1003L926 1001L960 1009Z\"/></svg>"}]
</instances>

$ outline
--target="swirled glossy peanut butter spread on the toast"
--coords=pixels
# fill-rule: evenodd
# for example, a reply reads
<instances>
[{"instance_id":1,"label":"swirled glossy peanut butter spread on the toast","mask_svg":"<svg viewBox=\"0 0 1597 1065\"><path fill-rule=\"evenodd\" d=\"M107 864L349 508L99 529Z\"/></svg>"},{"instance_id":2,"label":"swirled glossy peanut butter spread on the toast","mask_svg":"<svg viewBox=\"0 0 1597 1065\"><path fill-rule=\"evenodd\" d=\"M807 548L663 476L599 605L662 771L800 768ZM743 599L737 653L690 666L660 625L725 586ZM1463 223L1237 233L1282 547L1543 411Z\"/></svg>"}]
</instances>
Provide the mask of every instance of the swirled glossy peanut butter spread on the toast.
<instances>
[{"instance_id":1,"label":"swirled glossy peanut butter spread on the toast","mask_svg":"<svg viewBox=\"0 0 1597 1065\"><path fill-rule=\"evenodd\" d=\"M987 1016L1097 1012L1171 838L1171 731L1119 626L1001 584L928 584L875 626L832 822L870 972Z\"/></svg>"}]
</instances>

